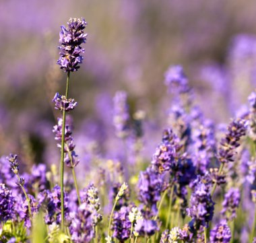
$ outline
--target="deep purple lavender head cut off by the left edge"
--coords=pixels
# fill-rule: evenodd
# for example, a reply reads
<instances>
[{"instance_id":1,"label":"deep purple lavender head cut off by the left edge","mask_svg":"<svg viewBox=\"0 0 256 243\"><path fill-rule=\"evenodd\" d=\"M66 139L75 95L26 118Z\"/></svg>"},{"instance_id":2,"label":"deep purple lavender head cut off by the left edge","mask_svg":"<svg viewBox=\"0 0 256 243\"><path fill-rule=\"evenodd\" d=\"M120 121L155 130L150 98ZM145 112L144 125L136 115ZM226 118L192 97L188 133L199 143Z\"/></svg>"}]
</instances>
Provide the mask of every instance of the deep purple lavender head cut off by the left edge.
<instances>
[{"instance_id":1,"label":"deep purple lavender head cut off by the left edge","mask_svg":"<svg viewBox=\"0 0 256 243\"><path fill-rule=\"evenodd\" d=\"M5 184L0 184L0 222L11 219L13 215L14 198L11 190L5 187Z\"/></svg>"}]
</instances>

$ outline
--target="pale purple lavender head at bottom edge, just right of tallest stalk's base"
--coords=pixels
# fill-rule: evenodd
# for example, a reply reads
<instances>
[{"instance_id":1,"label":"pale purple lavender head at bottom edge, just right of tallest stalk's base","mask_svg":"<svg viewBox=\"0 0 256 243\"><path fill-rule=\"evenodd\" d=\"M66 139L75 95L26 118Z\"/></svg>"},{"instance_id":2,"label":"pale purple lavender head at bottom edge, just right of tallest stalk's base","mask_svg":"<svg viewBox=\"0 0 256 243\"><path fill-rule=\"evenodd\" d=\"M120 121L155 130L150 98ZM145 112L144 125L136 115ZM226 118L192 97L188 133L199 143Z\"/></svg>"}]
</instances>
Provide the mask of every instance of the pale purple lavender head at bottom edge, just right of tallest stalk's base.
<instances>
[{"instance_id":1,"label":"pale purple lavender head at bottom edge, just right of tallest stalk's base","mask_svg":"<svg viewBox=\"0 0 256 243\"><path fill-rule=\"evenodd\" d=\"M71 217L69 226L71 239L75 243L88 243L94 237L92 212L87 203L79 205L76 212Z\"/></svg>"}]
</instances>

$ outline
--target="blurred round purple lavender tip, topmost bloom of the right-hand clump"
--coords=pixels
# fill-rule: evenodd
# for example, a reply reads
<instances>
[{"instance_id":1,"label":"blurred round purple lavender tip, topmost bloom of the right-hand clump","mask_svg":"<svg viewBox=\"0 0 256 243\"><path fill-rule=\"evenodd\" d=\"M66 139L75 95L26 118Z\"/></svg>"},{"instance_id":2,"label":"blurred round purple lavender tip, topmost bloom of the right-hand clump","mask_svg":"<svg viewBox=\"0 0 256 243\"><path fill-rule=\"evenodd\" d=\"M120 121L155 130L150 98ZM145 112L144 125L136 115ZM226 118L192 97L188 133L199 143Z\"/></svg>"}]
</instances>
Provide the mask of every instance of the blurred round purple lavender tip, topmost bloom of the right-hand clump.
<instances>
[{"instance_id":1,"label":"blurred round purple lavender tip, topmost bloom of the right-hand clump","mask_svg":"<svg viewBox=\"0 0 256 243\"><path fill-rule=\"evenodd\" d=\"M188 80L180 65L170 66L164 75L164 83L168 86L170 93L188 92Z\"/></svg>"}]
</instances>

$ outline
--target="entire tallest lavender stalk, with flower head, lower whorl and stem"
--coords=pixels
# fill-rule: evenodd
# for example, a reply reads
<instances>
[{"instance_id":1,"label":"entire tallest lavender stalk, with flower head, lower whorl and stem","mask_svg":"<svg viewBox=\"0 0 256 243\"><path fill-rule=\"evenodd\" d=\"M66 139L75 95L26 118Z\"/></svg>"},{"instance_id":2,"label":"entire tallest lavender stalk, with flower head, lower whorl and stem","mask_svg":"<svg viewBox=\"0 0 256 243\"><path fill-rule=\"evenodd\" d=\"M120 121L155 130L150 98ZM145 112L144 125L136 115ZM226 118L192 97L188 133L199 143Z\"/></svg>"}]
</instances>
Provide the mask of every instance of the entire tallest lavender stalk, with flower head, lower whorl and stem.
<instances>
[{"instance_id":1,"label":"entire tallest lavender stalk, with flower head, lower whorl and stem","mask_svg":"<svg viewBox=\"0 0 256 243\"><path fill-rule=\"evenodd\" d=\"M65 119L66 112L73 110L72 100L67 100L69 94L69 76L70 72L77 71L79 69L79 63L82 63L84 57L80 54L84 53L84 48L80 45L86 42L87 34L84 34L84 29L86 28L87 23L84 18L76 19L70 18L67 23L67 28L61 26L61 32L59 33L59 42L61 50L59 55L59 60L57 64L61 66L65 72L67 72L67 83L66 83L66 92L65 97L61 100L62 102L57 103L56 106L63 112L63 123L62 123L62 137L61 137L61 230L64 231L64 153L65 153ZM63 102L64 101L64 102ZM68 101L68 102L65 102ZM59 107L58 107L59 105ZM76 179L75 179L76 182Z\"/></svg>"}]
</instances>

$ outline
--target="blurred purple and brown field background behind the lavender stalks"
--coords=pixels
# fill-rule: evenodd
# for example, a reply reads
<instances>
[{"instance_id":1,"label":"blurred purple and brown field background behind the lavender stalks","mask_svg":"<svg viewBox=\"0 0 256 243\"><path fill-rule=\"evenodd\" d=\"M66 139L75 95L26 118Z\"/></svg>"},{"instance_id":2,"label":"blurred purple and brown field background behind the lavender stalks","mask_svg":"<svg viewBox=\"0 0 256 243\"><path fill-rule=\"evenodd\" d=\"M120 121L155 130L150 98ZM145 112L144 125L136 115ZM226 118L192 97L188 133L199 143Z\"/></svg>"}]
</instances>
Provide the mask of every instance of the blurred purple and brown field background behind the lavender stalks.
<instances>
[{"instance_id":1,"label":"blurred purple and brown field background behind the lavender stalks","mask_svg":"<svg viewBox=\"0 0 256 243\"><path fill-rule=\"evenodd\" d=\"M1 0L1 155L59 161L52 127L60 114L51 100L65 89L57 46L70 17L88 22L84 63L71 73L69 93L78 102L74 137L84 154L94 140L115 137L117 90L127 92L131 112L146 112L157 144L170 106L169 65L184 67L205 116L228 122L256 85L255 9L254 0Z\"/></svg>"}]
</instances>

